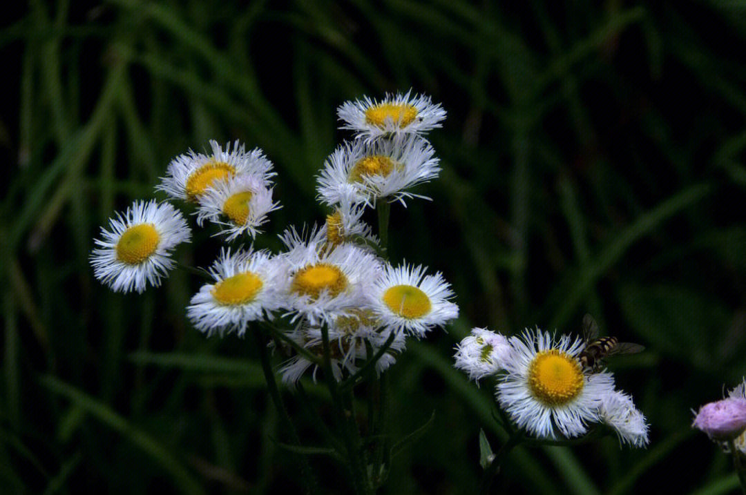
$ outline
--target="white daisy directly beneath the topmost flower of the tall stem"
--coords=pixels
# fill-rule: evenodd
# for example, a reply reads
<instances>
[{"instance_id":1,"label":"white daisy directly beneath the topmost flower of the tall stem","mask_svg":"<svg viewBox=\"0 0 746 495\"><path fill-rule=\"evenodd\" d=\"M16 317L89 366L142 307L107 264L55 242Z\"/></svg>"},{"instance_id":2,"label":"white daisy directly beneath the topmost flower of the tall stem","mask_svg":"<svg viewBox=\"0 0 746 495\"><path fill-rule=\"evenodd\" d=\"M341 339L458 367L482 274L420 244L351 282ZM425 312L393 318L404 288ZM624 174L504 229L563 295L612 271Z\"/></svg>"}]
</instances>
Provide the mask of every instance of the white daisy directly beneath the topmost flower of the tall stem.
<instances>
[{"instance_id":1,"label":"white daisy directly beneath the topmost flower of the tall stem","mask_svg":"<svg viewBox=\"0 0 746 495\"><path fill-rule=\"evenodd\" d=\"M374 206L378 198L402 204L404 198L426 198L407 189L438 177L434 154L430 143L418 136L343 143L319 173L319 201L334 205L352 195L354 203Z\"/></svg>"}]
</instances>

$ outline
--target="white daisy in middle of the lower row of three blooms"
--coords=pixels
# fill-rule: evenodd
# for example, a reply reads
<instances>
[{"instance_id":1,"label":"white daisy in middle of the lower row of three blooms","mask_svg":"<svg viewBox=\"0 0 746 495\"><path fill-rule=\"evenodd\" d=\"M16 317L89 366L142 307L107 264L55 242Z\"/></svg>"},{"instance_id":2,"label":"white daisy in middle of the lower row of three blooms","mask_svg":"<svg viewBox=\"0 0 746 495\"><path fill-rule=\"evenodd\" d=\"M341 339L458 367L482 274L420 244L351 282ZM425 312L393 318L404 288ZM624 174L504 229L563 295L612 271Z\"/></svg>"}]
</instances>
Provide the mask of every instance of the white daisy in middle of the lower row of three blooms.
<instances>
[{"instance_id":1,"label":"white daisy in middle of the lower row of three blooms","mask_svg":"<svg viewBox=\"0 0 746 495\"><path fill-rule=\"evenodd\" d=\"M363 306L365 294L380 274L380 261L369 250L349 243L327 248L318 230L304 240L295 230L280 239L285 277L280 283L285 307L312 326L330 323Z\"/></svg>"}]
</instances>

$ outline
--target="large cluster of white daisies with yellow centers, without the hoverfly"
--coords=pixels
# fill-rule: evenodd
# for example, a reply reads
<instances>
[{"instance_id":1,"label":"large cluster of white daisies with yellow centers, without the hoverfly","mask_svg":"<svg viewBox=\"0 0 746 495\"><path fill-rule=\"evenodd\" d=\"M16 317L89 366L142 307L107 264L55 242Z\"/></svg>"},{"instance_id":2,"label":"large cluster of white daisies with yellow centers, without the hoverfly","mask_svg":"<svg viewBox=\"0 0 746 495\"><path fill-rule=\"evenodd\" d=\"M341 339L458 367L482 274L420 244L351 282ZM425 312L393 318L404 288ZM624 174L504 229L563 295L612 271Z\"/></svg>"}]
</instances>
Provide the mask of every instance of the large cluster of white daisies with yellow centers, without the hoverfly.
<instances>
[{"instance_id":1,"label":"large cluster of white daisies with yellow centers, without the hoverfly","mask_svg":"<svg viewBox=\"0 0 746 495\"><path fill-rule=\"evenodd\" d=\"M354 139L340 145L318 177L319 201L330 211L320 227L289 227L280 253L254 250L274 201L275 171L259 148L239 142L175 157L156 186L192 209L199 227L213 224L225 246L205 274L210 282L186 315L206 335L242 336L251 322L280 328L275 350L285 356L283 381L314 376L328 359L341 380L373 357L377 372L395 362L406 339L421 338L456 318L451 286L421 265L390 265L386 246L363 220L366 209L414 198L413 186L437 177L438 159L424 133L445 110L423 95L388 95L338 109ZM95 277L114 291L159 286L175 267L172 250L187 242L184 215L169 202L136 201L102 229L91 255ZM275 335L277 336L277 335ZM326 350L325 350L326 349Z\"/></svg>"}]
</instances>

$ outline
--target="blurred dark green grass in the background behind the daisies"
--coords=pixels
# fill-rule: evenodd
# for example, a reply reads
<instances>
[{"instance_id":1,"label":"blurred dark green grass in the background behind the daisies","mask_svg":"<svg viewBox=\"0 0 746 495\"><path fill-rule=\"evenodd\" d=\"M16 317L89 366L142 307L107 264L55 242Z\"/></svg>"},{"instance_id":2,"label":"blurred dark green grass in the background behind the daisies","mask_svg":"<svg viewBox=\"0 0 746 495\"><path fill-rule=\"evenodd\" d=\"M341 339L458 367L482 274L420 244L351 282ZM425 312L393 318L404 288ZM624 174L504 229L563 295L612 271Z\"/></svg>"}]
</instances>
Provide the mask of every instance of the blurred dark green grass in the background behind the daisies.
<instances>
[{"instance_id":1,"label":"blurred dark green grass in the background behind the daisies","mask_svg":"<svg viewBox=\"0 0 746 495\"><path fill-rule=\"evenodd\" d=\"M394 435L436 416L387 493L474 493L479 428L500 432L489 384L451 366L470 327L576 331L586 311L648 347L611 368L651 447L519 449L497 488L733 491L689 423L746 374L745 38L740 1L31 1L0 31L3 493L297 489L251 344L185 321L200 281L112 294L87 256L207 139L275 162L283 209L257 245L278 248L321 218L336 106L410 87L449 116L431 134L442 177L419 190L433 201L392 209L392 259L444 271L462 317L390 372ZM211 262L208 234L182 262ZM339 467L312 463L345 493Z\"/></svg>"}]
</instances>

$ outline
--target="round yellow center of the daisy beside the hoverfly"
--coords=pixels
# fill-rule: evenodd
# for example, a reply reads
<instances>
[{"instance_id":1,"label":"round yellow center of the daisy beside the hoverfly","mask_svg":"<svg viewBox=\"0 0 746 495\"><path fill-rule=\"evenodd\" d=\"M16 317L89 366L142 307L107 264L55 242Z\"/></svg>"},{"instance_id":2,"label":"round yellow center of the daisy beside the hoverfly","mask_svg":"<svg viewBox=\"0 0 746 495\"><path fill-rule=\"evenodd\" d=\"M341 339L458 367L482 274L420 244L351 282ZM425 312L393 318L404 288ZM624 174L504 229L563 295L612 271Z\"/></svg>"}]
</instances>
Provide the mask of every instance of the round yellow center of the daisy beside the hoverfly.
<instances>
[{"instance_id":1,"label":"round yellow center of the daisy beside the hoverfly","mask_svg":"<svg viewBox=\"0 0 746 495\"><path fill-rule=\"evenodd\" d=\"M580 362L557 349L537 353L528 368L528 386L533 396L548 406L570 402L584 384Z\"/></svg>"}]
</instances>

